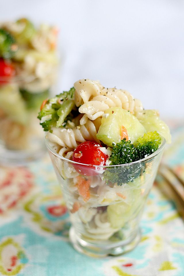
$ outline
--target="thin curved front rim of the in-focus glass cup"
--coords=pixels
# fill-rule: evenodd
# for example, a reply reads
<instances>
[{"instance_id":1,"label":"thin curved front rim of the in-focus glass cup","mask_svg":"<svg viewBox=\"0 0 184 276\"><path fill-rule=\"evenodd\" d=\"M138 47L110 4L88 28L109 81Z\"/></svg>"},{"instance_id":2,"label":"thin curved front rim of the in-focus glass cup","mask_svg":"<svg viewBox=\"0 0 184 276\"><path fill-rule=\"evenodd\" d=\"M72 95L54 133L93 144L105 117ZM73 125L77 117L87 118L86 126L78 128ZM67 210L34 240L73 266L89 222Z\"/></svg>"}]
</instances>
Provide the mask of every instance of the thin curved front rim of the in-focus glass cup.
<instances>
[{"instance_id":1,"label":"thin curved front rim of the in-focus glass cup","mask_svg":"<svg viewBox=\"0 0 184 276\"><path fill-rule=\"evenodd\" d=\"M49 150L49 152L51 152L57 158L65 161L65 162L68 162L70 164L76 164L78 166L86 166L86 167L90 167L90 168L96 168L96 167L97 168L113 168L113 167L120 167L120 166L126 167L126 166L134 165L134 164L137 164L137 163L140 163L140 162L144 162L144 161L148 161L148 160L152 159L154 156L156 156L157 154L159 154L164 149L164 147L166 145L166 140L165 140L165 138L163 138L162 142L161 142L161 145L158 148L158 150L156 150L155 152L153 152L152 154L148 155L147 157L145 157L143 159L140 159L140 160L137 160L137 161L134 161L134 162L131 162L131 163L126 163L126 164L106 165L106 166L100 166L100 165L97 166L97 165L91 165L91 164L78 163L78 162L69 160L69 159L67 159L67 158L59 155L57 152L54 152L53 149L51 148L51 146L49 145L49 142L48 142L48 139L47 139L47 133L45 134L45 144L46 144L46 147Z\"/></svg>"}]
</instances>

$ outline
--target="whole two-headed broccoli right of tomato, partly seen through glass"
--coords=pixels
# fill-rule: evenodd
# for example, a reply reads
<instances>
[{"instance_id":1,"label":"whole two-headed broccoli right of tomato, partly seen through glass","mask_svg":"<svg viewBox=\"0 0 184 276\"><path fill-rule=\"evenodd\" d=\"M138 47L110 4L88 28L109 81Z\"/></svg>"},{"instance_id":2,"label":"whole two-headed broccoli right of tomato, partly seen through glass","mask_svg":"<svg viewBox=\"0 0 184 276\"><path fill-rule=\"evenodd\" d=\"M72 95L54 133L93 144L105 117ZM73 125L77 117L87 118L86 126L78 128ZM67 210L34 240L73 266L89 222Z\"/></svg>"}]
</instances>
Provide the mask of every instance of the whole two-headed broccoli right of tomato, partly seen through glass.
<instances>
[{"instance_id":1,"label":"whole two-headed broccoli right of tomato, partly seen through glass","mask_svg":"<svg viewBox=\"0 0 184 276\"><path fill-rule=\"evenodd\" d=\"M131 141L123 139L112 148L112 154L109 158L110 165L127 164L141 160L158 150L161 143L161 137L156 131L147 132L143 137L139 137L134 144ZM108 168L104 172L106 183L117 183L122 185L137 178L143 166L138 162L136 165L126 167Z\"/></svg>"}]
</instances>

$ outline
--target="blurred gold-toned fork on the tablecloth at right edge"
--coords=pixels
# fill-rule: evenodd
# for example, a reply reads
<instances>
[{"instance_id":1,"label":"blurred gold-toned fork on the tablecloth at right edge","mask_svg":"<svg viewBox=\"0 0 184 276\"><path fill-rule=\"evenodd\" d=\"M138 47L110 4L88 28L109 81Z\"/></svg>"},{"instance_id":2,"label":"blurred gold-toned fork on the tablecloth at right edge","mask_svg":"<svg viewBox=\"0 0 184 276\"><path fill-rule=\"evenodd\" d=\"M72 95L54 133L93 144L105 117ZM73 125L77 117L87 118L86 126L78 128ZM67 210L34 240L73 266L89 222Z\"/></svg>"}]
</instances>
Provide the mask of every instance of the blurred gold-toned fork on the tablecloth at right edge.
<instances>
[{"instance_id":1,"label":"blurred gold-toned fork on the tablecloth at right edge","mask_svg":"<svg viewBox=\"0 0 184 276\"><path fill-rule=\"evenodd\" d=\"M159 178L164 181L159 181ZM175 203L178 213L184 219L184 181L163 163L158 170L158 187Z\"/></svg>"}]
</instances>

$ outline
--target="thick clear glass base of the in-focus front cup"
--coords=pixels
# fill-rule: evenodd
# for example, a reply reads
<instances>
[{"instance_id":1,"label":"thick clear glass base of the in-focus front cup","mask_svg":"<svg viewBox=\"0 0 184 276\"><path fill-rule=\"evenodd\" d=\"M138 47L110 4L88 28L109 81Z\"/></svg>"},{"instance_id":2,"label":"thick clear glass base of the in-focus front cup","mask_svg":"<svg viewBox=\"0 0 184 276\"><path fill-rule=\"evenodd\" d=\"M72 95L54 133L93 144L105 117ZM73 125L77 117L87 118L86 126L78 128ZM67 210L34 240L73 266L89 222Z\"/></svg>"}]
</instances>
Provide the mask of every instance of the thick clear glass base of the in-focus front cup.
<instances>
[{"instance_id":1,"label":"thick clear glass base of the in-focus front cup","mask_svg":"<svg viewBox=\"0 0 184 276\"><path fill-rule=\"evenodd\" d=\"M111 246L98 246L84 241L76 235L74 227L70 228L69 237L74 249L78 252L91 257L103 258L108 256L120 256L132 250L141 239L141 231L138 229L131 239L113 243Z\"/></svg>"}]
</instances>

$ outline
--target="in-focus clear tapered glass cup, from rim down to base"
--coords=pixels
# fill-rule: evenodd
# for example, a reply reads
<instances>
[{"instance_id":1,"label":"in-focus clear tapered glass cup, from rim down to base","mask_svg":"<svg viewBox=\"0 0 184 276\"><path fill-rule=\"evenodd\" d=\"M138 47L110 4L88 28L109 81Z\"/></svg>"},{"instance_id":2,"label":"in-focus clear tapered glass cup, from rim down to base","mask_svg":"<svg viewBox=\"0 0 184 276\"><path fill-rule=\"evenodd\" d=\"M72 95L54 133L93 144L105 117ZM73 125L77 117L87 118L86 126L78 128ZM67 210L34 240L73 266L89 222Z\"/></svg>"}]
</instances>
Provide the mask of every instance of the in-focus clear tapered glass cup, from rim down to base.
<instances>
[{"instance_id":1,"label":"in-focus clear tapered glass cup, from rim down to base","mask_svg":"<svg viewBox=\"0 0 184 276\"><path fill-rule=\"evenodd\" d=\"M140 240L139 222L165 140L152 155L117 166L70 161L54 151L47 136L46 145L70 213L74 248L94 257L133 249Z\"/></svg>"}]
</instances>

